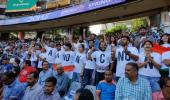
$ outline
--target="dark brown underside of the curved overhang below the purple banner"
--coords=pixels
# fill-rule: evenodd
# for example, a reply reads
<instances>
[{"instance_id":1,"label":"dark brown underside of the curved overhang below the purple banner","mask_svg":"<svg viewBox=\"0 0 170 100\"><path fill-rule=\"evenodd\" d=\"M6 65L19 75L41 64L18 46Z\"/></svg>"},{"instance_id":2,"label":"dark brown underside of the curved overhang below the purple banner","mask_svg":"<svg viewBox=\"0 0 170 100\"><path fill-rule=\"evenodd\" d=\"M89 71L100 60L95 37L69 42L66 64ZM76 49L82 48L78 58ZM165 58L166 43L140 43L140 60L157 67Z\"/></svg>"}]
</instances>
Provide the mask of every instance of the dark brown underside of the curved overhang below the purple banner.
<instances>
[{"instance_id":1,"label":"dark brown underside of the curved overhang below the purple banner","mask_svg":"<svg viewBox=\"0 0 170 100\"><path fill-rule=\"evenodd\" d=\"M153 15L164 10L169 10L169 8L170 0L135 0L134 2L110 6L60 19L0 26L0 31L43 31L56 27L85 26Z\"/></svg>"}]
</instances>

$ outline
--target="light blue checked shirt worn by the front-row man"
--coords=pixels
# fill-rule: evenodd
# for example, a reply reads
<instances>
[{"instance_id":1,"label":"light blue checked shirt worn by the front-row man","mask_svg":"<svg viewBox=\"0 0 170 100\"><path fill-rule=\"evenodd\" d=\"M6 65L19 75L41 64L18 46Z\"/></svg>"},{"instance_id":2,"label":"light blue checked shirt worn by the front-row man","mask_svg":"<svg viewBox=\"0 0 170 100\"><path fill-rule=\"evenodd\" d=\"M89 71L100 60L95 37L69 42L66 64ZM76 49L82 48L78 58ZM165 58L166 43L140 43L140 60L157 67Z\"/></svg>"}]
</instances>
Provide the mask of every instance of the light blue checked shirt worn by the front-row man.
<instances>
[{"instance_id":1,"label":"light blue checked shirt worn by the front-row man","mask_svg":"<svg viewBox=\"0 0 170 100\"><path fill-rule=\"evenodd\" d=\"M115 100L152 100L150 84L141 77L134 84L128 78L121 78L117 83Z\"/></svg>"}]
</instances>

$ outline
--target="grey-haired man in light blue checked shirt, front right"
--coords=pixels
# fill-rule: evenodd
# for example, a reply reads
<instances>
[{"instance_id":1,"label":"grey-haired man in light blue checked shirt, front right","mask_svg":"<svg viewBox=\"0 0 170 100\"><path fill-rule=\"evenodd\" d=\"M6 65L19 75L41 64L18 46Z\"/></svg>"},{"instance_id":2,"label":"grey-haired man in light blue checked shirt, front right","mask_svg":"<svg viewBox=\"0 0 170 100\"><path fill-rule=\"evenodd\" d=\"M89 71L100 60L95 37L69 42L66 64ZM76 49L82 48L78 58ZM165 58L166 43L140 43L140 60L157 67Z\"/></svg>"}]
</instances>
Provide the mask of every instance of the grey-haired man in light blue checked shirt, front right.
<instances>
[{"instance_id":1,"label":"grey-haired man in light blue checked shirt, front right","mask_svg":"<svg viewBox=\"0 0 170 100\"><path fill-rule=\"evenodd\" d=\"M125 75L116 85L115 100L152 100L151 86L148 80L138 77L138 65L128 63Z\"/></svg>"}]
</instances>

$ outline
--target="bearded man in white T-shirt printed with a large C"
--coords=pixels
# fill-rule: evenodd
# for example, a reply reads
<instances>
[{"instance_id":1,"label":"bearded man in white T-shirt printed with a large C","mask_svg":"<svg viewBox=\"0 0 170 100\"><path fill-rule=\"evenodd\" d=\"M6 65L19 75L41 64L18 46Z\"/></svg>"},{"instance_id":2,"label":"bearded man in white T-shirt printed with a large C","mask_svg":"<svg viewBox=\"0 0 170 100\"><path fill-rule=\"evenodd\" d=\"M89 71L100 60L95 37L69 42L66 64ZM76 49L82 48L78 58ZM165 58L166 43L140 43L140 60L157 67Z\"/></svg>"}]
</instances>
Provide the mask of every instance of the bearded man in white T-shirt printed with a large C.
<instances>
[{"instance_id":1,"label":"bearded man in white T-shirt printed with a large C","mask_svg":"<svg viewBox=\"0 0 170 100\"><path fill-rule=\"evenodd\" d=\"M96 74L95 83L96 85L104 79L104 73L109 69L111 61L111 52L106 50L106 43L100 42L99 51L95 51L91 55L92 59L95 60Z\"/></svg>"}]
</instances>

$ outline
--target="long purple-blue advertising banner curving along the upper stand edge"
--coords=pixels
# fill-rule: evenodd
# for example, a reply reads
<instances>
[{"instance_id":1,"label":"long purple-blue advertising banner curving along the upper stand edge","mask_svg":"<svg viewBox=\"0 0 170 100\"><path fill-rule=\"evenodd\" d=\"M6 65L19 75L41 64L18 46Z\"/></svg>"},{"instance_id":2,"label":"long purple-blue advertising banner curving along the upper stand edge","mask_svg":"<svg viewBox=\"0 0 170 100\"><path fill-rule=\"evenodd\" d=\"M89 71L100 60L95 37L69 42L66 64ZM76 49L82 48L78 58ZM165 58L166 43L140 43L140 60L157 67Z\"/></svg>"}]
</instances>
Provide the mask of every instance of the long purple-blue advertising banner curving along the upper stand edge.
<instances>
[{"instance_id":1,"label":"long purple-blue advertising banner curving along the upper stand edge","mask_svg":"<svg viewBox=\"0 0 170 100\"><path fill-rule=\"evenodd\" d=\"M70 16L73 14L86 13L86 12L96 10L99 8L101 9L103 7L108 7L108 6L113 6L115 4L124 3L125 1L126 0L91 1L91 2L80 4L80 5L60 9L60 10L56 9L52 12L45 13L45 14L0 20L0 26L29 23L29 22L38 22L38 21L45 21L45 20L47 21L51 19L57 19L57 18Z\"/></svg>"}]
</instances>

